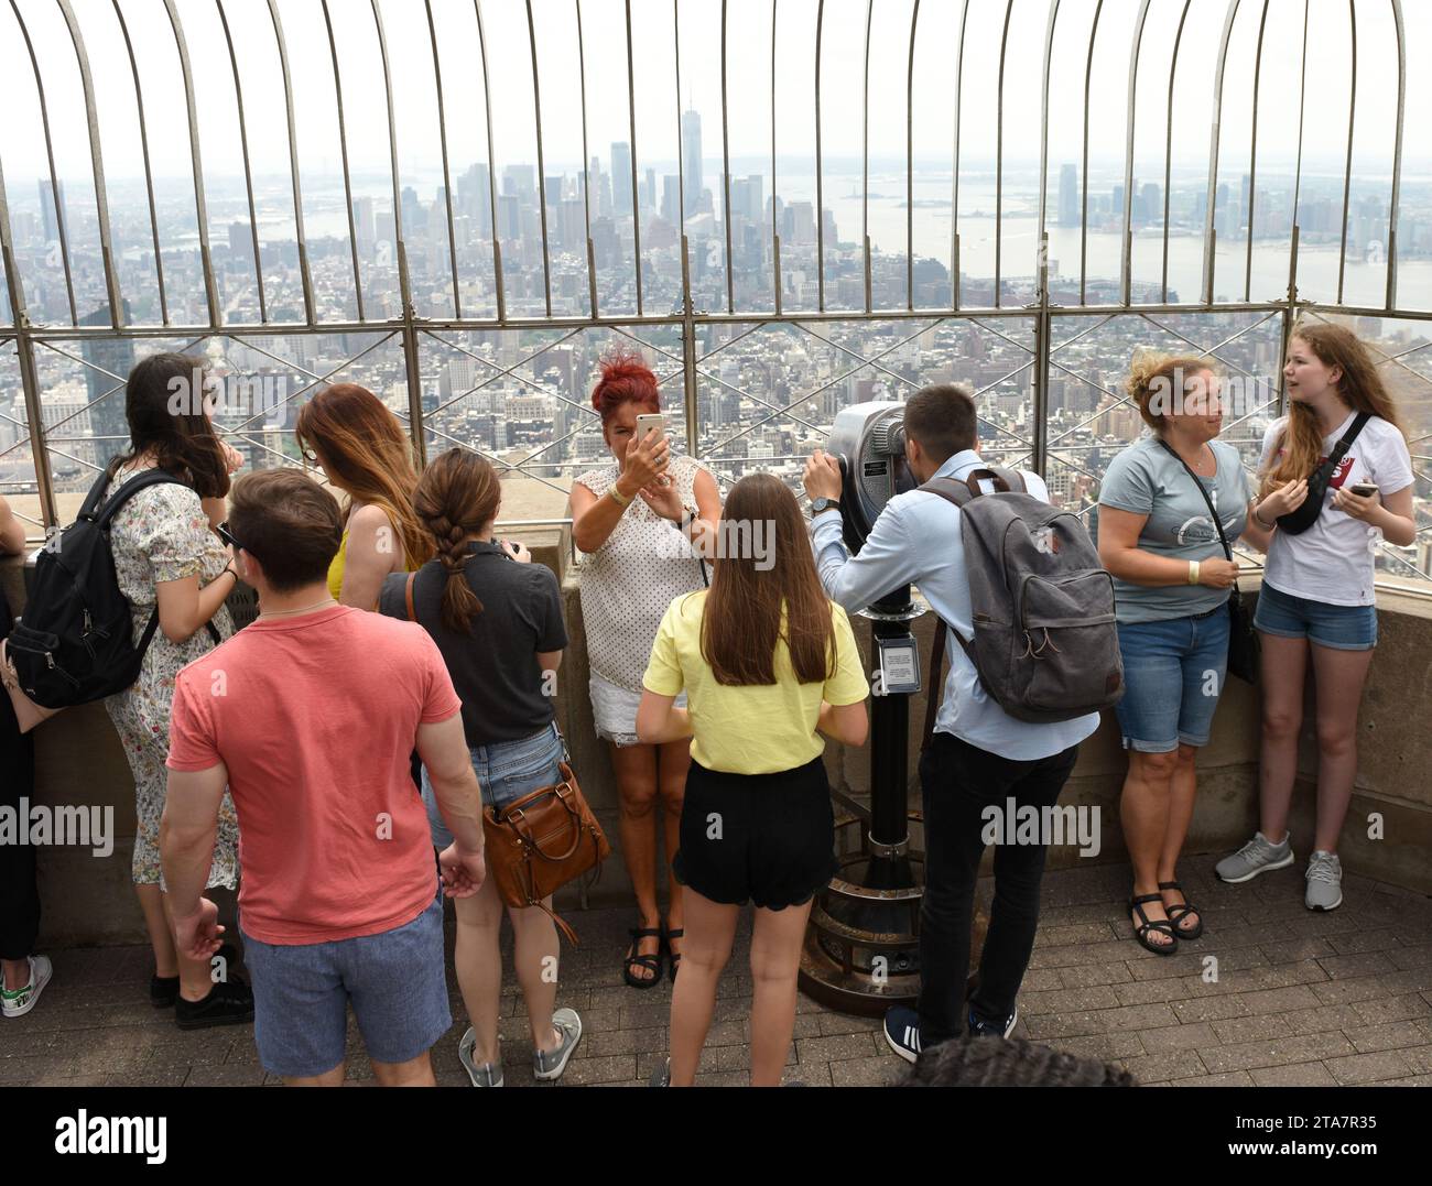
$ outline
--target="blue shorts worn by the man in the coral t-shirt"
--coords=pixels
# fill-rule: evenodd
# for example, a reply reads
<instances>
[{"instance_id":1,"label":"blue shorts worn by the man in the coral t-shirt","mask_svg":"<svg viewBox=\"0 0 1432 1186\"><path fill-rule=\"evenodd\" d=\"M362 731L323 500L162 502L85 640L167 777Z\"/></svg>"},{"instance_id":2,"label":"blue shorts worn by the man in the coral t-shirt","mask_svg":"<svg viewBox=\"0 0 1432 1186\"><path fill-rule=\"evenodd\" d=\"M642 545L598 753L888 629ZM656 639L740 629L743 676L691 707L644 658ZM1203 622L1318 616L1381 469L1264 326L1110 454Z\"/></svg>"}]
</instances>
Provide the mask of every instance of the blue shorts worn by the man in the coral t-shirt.
<instances>
[{"instance_id":1,"label":"blue shorts worn by the man in the coral t-shirt","mask_svg":"<svg viewBox=\"0 0 1432 1186\"><path fill-rule=\"evenodd\" d=\"M417 1059L453 1027L441 894L411 922L377 935L291 945L245 934L243 963L253 977L253 1041L269 1074L306 1079L342 1063L349 1003L378 1063Z\"/></svg>"}]
</instances>

